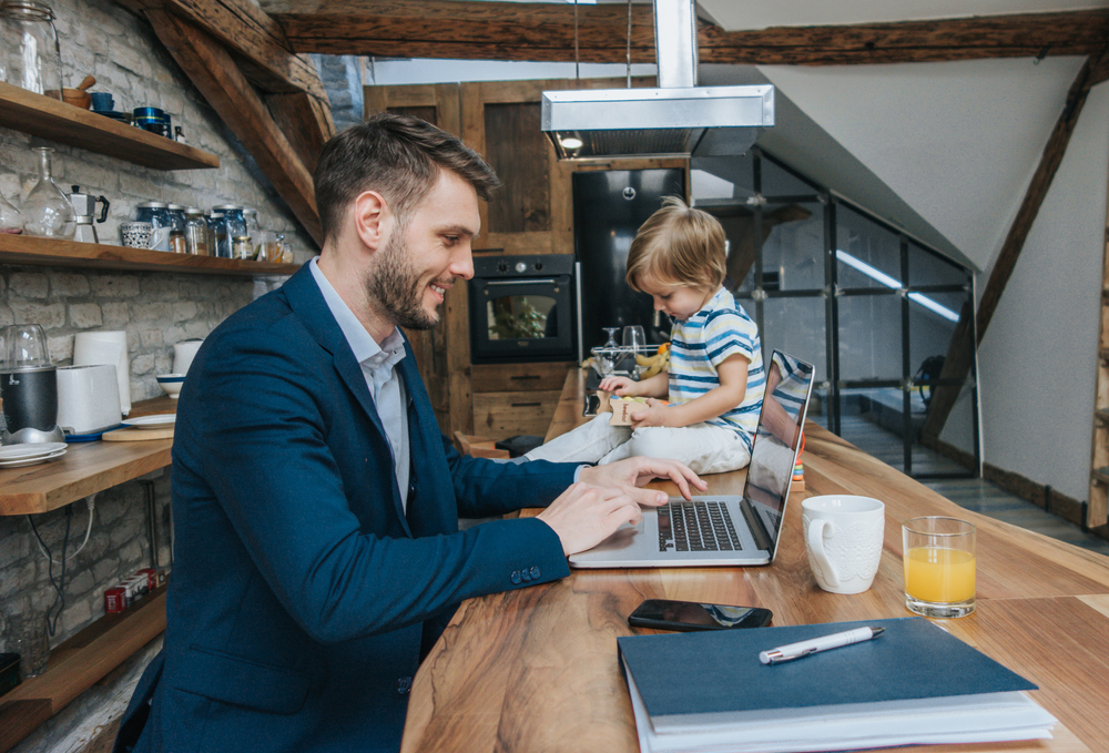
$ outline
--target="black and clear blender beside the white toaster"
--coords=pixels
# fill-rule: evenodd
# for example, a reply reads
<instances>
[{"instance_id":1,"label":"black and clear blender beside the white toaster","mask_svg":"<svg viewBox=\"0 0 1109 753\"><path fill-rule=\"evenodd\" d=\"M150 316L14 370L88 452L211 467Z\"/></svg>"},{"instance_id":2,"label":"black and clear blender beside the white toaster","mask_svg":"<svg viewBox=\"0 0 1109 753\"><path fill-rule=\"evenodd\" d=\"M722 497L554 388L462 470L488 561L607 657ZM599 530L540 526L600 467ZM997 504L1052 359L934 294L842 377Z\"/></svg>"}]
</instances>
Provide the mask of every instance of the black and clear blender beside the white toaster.
<instances>
[{"instance_id":1,"label":"black and clear blender beside the white toaster","mask_svg":"<svg viewBox=\"0 0 1109 753\"><path fill-rule=\"evenodd\" d=\"M42 327L9 325L0 346L0 444L65 441L58 426L58 369Z\"/></svg>"}]
</instances>

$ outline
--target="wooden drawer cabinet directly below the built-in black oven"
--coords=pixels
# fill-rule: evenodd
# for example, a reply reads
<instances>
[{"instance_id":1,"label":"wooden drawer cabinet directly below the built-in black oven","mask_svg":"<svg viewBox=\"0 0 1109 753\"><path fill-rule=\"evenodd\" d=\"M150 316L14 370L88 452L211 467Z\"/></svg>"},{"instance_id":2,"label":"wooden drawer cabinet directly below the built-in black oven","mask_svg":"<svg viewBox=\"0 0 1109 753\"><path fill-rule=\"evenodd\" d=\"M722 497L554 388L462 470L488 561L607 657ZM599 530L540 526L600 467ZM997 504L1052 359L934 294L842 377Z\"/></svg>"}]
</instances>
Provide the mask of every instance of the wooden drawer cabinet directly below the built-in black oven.
<instances>
[{"instance_id":1,"label":"wooden drawer cabinet directly below the built-in black oven","mask_svg":"<svg viewBox=\"0 0 1109 753\"><path fill-rule=\"evenodd\" d=\"M507 439L518 434L546 436L554 417L567 369L573 362L475 364L474 434Z\"/></svg>"}]
</instances>

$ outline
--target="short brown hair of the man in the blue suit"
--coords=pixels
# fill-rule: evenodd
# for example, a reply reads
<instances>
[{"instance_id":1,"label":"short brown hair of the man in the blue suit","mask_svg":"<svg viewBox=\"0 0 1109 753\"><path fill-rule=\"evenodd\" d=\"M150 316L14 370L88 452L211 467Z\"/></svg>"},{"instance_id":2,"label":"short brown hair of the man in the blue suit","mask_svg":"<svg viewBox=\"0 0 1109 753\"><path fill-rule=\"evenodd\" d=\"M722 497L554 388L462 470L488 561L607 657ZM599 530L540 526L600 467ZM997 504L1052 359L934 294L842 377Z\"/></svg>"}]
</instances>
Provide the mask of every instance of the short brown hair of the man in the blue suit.
<instances>
[{"instance_id":1,"label":"short brown hair of the man in the blue suit","mask_svg":"<svg viewBox=\"0 0 1109 753\"><path fill-rule=\"evenodd\" d=\"M481 155L419 118L380 112L333 136L312 176L324 237L338 230L347 206L364 191L380 193L405 225L440 170L460 175L485 201L500 185Z\"/></svg>"}]
</instances>

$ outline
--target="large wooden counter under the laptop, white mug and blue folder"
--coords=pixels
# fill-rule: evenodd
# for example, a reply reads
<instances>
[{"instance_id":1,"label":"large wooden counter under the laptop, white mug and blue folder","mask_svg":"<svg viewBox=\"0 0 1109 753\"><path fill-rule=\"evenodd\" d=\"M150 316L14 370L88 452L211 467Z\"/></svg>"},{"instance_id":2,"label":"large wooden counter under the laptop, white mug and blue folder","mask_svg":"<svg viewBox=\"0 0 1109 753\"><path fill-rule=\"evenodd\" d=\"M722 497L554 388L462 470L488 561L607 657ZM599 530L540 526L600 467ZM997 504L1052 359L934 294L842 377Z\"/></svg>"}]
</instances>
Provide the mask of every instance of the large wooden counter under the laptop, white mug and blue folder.
<instances>
[{"instance_id":1,"label":"large wooden counter under the laptop, white mug and blue folder","mask_svg":"<svg viewBox=\"0 0 1109 753\"><path fill-rule=\"evenodd\" d=\"M552 431L582 420L582 396L572 370ZM640 601L765 607L776 625L908 617L901 522L950 515L978 527L978 609L938 624L1038 684L1032 698L1060 724L1048 741L919 750L1109 751L1109 558L964 510L815 424L806 435L806 491L791 496L773 564L576 570L556 583L471 599L416 675L401 750L637 751L615 639L654 632L628 625ZM711 491L739 493L743 474L706 480ZM813 580L800 502L826 493L886 503L882 563L866 593L825 593Z\"/></svg>"}]
</instances>

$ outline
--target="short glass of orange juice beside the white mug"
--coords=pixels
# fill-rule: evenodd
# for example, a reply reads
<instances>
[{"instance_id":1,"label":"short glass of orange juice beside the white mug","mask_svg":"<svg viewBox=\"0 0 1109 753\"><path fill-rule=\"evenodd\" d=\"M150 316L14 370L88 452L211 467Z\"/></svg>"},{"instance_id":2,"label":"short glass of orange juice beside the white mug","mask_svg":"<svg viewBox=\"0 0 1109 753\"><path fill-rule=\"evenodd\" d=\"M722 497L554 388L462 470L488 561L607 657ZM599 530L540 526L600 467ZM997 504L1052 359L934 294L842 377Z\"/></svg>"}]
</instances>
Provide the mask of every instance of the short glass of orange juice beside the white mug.
<instances>
[{"instance_id":1,"label":"short glass of orange juice beside the white mug","mask_svg":"<svg viewBox=\"0 0 1109 753\"><path fill-rule=\"evenodd\" d=\"M975 607L975 527L958 518L902 523L905 606L924 617L964 617Z\"/></svg>"}]
</instances>

